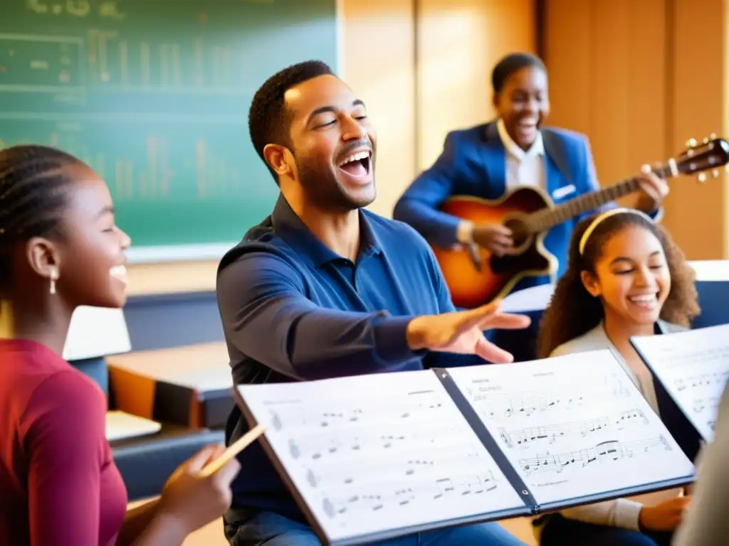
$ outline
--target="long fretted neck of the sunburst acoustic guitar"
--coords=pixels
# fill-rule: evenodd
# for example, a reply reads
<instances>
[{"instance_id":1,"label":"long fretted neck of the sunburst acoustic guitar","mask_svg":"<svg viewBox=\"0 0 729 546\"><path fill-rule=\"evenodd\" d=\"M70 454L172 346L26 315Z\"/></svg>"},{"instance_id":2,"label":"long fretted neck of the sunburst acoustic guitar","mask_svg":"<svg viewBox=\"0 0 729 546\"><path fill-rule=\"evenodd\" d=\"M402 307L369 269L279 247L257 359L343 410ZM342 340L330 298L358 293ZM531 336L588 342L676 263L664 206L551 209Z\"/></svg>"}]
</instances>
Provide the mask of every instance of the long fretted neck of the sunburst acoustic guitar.
<instances>
[{"instance_id":1,"label":"long fretted neck of the sunburst acoustic guitar","mask_svg":"<svg viewBox=\"0 0 729 546\"><path fill-rule=\"evenodd\" d=\"M673 176L671 168L660 167L653 170L655 174L661 178ZM638 178L626 178L623 181L597 191L591 191L589 194L581 195L572 201L568 201L563 205L559 205L553 209L542 209L533 213L529 217L529 228L531 232L545 232L548 229L557 226L570 218L575 218L581 214L601 207L609 202L615 201L619 197L632 194L640 189Z\"/></svg>"}]
</instances>

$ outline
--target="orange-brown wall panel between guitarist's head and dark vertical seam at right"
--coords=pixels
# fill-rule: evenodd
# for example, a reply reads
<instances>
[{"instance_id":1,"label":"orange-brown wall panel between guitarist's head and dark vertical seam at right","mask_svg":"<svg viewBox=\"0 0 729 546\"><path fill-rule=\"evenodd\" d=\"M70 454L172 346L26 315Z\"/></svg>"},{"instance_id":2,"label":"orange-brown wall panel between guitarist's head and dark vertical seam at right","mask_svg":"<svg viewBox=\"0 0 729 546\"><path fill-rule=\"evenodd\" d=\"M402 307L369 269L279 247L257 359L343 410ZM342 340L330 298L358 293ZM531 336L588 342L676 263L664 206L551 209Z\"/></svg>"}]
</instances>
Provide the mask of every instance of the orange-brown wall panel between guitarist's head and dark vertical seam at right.
<instances>
[{"instance_id":1,"label":"orange-brown wall panel between guitarist's head and dark vertical seam at right","mask_svg":"<svg viewBox=\"0 0 729 546\"><path fill-rule=\"evenodd\" d=\"M588 135L601 183L666 159L664 1L549 0L545 22L550 123Z\"/></svg>"}]
</instances>

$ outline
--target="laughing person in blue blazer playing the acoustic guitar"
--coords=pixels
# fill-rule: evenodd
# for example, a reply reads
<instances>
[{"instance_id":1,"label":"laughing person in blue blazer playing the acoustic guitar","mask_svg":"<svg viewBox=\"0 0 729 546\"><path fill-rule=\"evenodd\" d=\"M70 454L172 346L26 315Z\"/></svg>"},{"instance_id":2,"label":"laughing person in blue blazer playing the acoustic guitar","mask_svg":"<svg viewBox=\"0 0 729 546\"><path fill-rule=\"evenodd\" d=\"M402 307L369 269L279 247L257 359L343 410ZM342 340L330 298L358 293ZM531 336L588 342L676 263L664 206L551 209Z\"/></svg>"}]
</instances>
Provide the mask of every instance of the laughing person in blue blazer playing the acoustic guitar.
<instances>
[{"instance_id":1,"label":"laughing person in blue blazer playing the acoustic guitar","mask_svg":"<svg viewBox=\"0 0 729 546\"><path fill-rule=\"evenodd\" d=\"M588 138L544 126L550 103L542 60L528 53L507 55L494 68L491 84L497 119L448 133L443 153L395 205L394 218L413 226L434 247L475 242L495 256L503 256L512 246L511 231L505 226L474 225L439 210L449 197L499 199L512 189L536 186L558 205L599 189ZM668 186L649 168L644 166L640 175L641 191L634 206L658 218ZM566 268L569 237L581 218L554 226L545 237L546 250L558 261L557 277ZM525 277L513 290L551 280L547 275Z\"/></svg>"}]
</instances>

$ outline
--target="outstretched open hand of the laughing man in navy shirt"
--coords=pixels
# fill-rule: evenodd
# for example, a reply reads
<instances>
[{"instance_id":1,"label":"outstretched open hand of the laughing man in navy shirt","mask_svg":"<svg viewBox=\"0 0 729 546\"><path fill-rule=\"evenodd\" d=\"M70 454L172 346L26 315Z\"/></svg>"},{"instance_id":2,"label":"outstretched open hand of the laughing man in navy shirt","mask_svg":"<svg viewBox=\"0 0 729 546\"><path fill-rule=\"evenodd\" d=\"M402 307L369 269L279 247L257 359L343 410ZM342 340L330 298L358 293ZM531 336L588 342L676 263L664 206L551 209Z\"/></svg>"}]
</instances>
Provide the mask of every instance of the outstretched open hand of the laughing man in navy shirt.
<instances>
[{"instance_id":1,"label":"outstretched open hand of the laughing man in navy shirt","mask_svg":"<svg viewBox=\"0 0 729 546\"><path fill-rule=\"evenodd\" d=\"M491 328L518 330L529 326L531 320L523 314L501 312L500 302L469 311L444 314L424 314L408 324L408 345L413 351L429 349L478 355L494 363L509 363L511 353L486 340L483 331Z\"/></svg>"}]
</instances>

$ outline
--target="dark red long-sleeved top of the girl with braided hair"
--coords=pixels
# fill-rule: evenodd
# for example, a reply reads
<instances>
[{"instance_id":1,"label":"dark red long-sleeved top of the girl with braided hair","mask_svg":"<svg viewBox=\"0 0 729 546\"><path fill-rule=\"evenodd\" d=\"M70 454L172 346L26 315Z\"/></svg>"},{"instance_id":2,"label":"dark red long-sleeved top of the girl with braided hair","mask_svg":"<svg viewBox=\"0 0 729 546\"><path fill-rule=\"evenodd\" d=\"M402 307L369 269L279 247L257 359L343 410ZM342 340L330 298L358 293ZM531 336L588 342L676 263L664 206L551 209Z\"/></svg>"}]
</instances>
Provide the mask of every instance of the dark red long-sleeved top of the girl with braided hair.
<instances>
[{"instance_id":1,"label":"dark red long-sleeved top of the girl with braided hair","mask_svg":"<svg viewBox=\"0 0 729 546\"><path fill-rule=\"evenodd\" d=\"M34 341L0 339L0 544L112 546L127 493L106 397Z\"/></svg>"}]
</instances>

